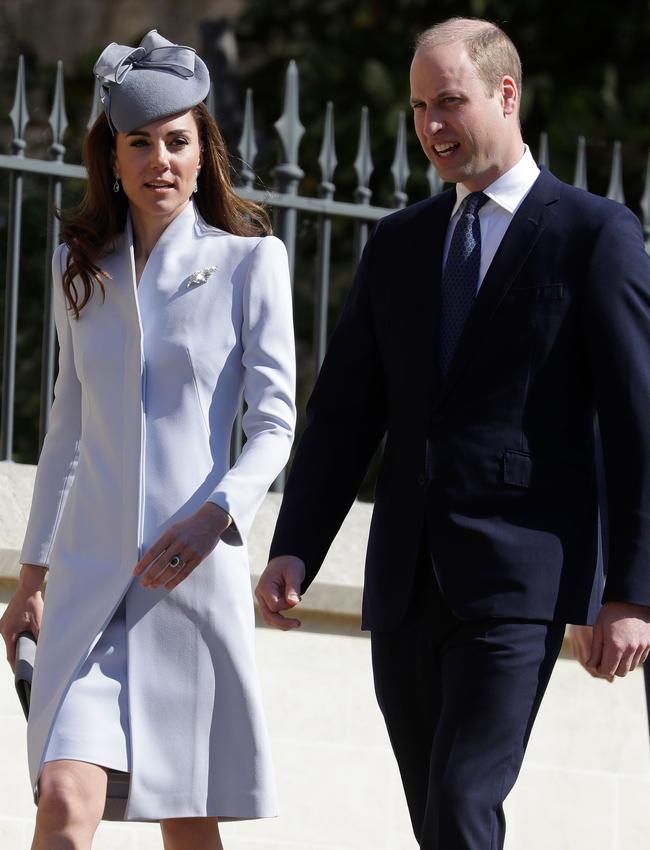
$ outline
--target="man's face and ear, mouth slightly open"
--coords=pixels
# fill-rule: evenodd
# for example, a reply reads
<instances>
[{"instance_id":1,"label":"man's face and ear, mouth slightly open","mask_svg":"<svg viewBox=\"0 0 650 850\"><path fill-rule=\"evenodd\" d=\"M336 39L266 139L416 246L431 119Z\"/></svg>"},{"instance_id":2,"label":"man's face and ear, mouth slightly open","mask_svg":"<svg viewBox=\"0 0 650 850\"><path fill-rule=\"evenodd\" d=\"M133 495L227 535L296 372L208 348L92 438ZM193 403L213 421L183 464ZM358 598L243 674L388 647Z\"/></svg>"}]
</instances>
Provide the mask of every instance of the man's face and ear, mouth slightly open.
<instances>
[{"instance_id":1,"label":"man's face and ear, mouth slightly open","mask_svg":"<svg viewBox=\"0 0 650 850\"><path fill-rule=\"evenodd\" d=\"M517 98L510 77L488 95L462 42L420 48L413 57L415 132L445 182L478 192L520 159Z\"/></svg>"}]
</instances>

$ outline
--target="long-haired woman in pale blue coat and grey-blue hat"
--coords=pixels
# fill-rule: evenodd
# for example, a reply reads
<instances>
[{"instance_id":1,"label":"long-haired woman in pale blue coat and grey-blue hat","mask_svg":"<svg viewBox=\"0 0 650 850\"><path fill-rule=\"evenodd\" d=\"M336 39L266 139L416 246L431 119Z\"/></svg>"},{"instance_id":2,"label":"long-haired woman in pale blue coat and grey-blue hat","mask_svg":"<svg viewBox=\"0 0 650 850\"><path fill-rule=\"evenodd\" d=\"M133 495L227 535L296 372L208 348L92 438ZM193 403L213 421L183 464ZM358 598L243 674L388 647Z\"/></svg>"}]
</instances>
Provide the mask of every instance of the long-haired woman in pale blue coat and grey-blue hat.
<instances>
[{"instance_id":1,"label":"long-haired woman in pale blue coat and grey-blue hat","mask_svg":"<svg viewBox=\"0 0 650 850\"><path fill-rule=\"evenodd\" d=\"M288 264L230 186L194 51L154 30L95 72L105 114L53 259L59 374L1 625L10 660L40 628L33 850L91 846L107 769L128 775L124 819L215 850L219 818L276 810L245 540L293 433Z\"/></svg>"}]
</instances>

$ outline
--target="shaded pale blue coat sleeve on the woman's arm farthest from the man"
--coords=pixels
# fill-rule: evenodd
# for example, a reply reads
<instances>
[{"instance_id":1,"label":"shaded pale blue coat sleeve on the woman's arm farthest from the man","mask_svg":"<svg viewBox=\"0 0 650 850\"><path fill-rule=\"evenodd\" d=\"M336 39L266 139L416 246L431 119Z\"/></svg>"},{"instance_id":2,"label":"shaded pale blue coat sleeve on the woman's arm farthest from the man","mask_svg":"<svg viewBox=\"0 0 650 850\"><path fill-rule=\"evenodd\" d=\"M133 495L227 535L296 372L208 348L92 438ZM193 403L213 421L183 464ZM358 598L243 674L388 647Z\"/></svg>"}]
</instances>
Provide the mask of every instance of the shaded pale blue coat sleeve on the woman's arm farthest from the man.
<instances>
[{"instance_id":1,"label":"shaded pale blue coat sleeve on the woman's arm farthest from the man","mask_svg":"<svg viewBox=\"0 0 650 850\"><path fill-rule=\"evenodd\" d=\"M79 456L81 437L81 384L72 351L70 317L63 292L64 245L52 258L54 318L59 340L59 371L49 427L36 470L32 506L21 563L49 567L52 544L63 514Z\"/></svg>"}]
</instances>

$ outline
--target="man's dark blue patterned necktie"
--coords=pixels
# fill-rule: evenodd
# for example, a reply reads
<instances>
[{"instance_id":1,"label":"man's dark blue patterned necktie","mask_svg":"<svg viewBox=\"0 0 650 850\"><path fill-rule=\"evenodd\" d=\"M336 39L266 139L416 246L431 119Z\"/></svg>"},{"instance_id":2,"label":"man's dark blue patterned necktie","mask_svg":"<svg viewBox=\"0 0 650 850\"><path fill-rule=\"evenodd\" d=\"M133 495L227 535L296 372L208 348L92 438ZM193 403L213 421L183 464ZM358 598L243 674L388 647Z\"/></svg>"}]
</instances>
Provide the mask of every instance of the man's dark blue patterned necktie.
<instances>
[{"instance_id":1,"label":"man's dark blue patterned necktie","mask_svg":"<svg viewBox=\"0 0 650 850\"><path fill-rule=\"evenodd\" d=\"M472 192L456 223L447 262L442 273L440 303L439 364L444 376L451 363L465 322L478 290L481 268L481 225L478 211L489 200L483 192Z\"/></svg>"}]
</instances>

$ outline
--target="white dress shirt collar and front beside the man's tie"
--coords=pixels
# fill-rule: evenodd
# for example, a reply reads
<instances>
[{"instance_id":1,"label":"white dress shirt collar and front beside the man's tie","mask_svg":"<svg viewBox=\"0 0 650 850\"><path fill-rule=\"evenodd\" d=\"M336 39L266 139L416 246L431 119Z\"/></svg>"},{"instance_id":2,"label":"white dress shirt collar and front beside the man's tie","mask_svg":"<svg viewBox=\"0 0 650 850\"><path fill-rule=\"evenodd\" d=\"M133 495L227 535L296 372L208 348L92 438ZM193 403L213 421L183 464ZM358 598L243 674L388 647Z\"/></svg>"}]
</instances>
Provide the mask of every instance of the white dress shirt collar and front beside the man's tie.
<instances>
[{"instance_id":1,"label":"white dress shirt collar and front beside the man's tie","mask_svg":"<svg viewBox=\"0 0 650 850\"><path fill-rule=\"evenodd\" d=\"M539 168L528 148L524 148L524 155L510 171L502 174L494 183L490 184L483 192L490 199L479 211L481 222L481 268L479 271L479 287L483 283L485 273L490 268L501 240L517 212L519 205L530 191L533 183L539 177ZM445 237L445 251L443 265L447 262L447 253L454 228L461 215L463 201L470 194L470 190L462 183L456 184L456 203L449 219L449 227Z\"/></svg>"}]
</instances>

